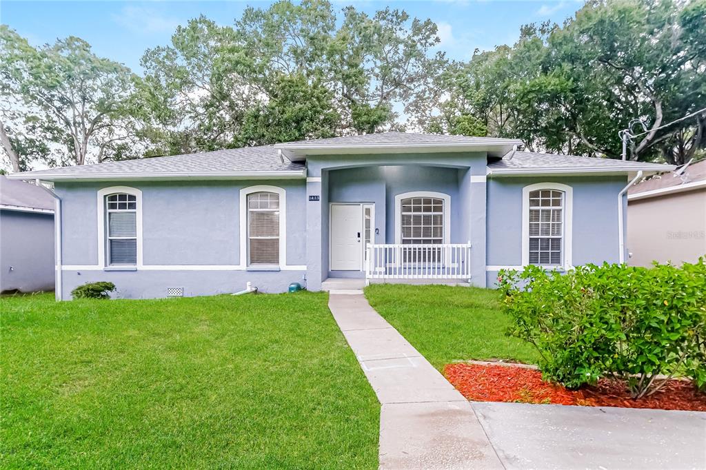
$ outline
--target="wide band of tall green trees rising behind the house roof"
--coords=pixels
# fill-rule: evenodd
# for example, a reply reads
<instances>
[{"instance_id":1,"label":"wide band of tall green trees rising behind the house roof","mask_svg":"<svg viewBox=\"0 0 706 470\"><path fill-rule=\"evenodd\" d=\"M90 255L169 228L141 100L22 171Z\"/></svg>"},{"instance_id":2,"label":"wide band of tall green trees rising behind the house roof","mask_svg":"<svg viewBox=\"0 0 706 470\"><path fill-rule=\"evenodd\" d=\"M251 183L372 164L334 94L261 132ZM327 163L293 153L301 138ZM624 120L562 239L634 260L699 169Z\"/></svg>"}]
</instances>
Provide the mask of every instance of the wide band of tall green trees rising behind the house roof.
<instances>
[{"instance_id":1,"label":"wide band of tall green trees rising behind the house roof","mask_svg":"<svg viewBox=\"0 0 706 470\"><path fill-rule=\"evenodd\" d=\"M280 0L193 18L140 77L77 37L32 47L3 25L0 145L14 171L384 130L620 158L632 123L630 159L682 164L705 154L704 31L706 0L589 0L457 62L431 20Z\"/></svg>"}]
</instances>

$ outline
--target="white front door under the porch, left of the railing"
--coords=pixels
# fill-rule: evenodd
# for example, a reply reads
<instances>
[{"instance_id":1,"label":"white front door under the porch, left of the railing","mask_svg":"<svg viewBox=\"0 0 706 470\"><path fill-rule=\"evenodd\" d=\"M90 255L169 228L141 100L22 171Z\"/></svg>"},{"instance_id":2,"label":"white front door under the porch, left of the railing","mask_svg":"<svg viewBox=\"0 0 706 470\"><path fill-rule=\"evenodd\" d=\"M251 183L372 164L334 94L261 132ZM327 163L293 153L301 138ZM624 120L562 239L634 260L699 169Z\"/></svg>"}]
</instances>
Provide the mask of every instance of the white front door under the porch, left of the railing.
<instances>
[{"instance_id":1,"label":"white front door under the porch, left of the railing","mask_svg":"<svg viewBox=\"0 0 706 470\"><path fill-rule=\"evenodd\" d=\"M360 271L363 268L363 206L331 205L332 271Z\"/></svg>"}]
</instances>

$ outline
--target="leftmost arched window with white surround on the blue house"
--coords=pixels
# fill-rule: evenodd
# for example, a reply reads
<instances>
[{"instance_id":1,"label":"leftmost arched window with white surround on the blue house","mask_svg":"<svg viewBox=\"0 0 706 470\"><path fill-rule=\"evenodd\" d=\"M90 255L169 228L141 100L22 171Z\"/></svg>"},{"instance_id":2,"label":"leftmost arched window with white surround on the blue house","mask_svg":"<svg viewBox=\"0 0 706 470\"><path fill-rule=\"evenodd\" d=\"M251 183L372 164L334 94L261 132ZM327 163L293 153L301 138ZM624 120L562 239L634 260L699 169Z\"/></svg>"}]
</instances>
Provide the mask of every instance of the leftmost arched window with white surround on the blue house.
<instances>
[{"instance_id":1,"label":"leftmost arched window with white surround on the blue house","mask_svg":"<svg viewBox=\"0 0 706 470\"><path fill-rule=\"evenodd\" d=\"M140 190L124 186L98 191L101 265L119 267L142 264L141 196Z\"/></svg>"}]
</instances>

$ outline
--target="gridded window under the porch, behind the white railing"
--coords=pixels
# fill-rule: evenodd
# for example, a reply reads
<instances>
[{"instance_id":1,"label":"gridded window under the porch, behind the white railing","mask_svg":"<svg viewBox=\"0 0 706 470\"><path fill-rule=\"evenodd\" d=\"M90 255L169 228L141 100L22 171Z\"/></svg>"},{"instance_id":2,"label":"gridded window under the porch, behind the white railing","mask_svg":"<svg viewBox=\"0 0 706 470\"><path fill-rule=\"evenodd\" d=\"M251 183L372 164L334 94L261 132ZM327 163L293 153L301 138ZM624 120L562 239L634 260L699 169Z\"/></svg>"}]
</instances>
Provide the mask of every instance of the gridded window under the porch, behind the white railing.
<instances>
[{"instance_id":1,"label":"gridded window under the porch, behind the white railing","mask_svg":"<svg viewBox=\"0 0 706 470\"><path fill-rule=\"evenodd\" d=\"M400 222L402 224L400 241L403 245L420 243L443 243L444 237L444 201L441 198L405 198L401 201ZM405 258L415 258L417 251L405 250ZM431 256L436 260L438 251L422 250L424 258ZM405 259L405 262L430 261L428 259Z\"/></svg>"}]
</instances>

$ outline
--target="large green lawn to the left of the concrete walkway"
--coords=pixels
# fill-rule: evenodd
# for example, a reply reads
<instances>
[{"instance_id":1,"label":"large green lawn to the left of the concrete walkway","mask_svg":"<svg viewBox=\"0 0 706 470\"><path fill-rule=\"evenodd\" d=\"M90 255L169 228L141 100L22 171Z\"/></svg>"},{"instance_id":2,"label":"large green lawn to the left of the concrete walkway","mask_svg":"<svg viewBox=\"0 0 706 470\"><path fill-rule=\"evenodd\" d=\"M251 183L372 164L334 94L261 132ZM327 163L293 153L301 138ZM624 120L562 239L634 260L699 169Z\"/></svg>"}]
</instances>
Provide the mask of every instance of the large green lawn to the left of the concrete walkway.
<instances>
[{"instance_id":1,"label":"large green lawn to the left of the concrete walkway","mask_svg":"<svg viewBox=\"0 0 706 470\"><path fill-rule=\"evenodd\" d=\"M0 466L376 468L325 294L0 299Z\"/></svg>"}]
</instances>

